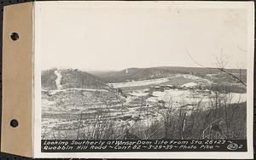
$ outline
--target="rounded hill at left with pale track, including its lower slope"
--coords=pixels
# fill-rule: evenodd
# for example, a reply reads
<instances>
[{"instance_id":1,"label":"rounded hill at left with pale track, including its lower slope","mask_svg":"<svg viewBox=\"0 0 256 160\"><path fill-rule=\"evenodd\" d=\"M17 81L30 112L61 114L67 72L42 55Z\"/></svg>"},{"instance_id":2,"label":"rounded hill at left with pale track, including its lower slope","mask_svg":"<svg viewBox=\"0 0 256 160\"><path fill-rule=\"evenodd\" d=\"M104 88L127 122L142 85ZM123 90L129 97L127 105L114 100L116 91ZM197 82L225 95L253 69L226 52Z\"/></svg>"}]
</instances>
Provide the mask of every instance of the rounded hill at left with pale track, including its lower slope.
<instances>
[{"instance_id":1,"label":"rounded hill at left with pale track, including its lower slope","mask_svg":"<svg viewBox=\"0 0 256 160\"><path fill-rule=\"evenodd\" d=\"M42 71L43 116L55 113L104 112L125 101L125 94L99 77L73 69ZM99 107L102 109L99 109Z\"/></svg>"}]
</instances>

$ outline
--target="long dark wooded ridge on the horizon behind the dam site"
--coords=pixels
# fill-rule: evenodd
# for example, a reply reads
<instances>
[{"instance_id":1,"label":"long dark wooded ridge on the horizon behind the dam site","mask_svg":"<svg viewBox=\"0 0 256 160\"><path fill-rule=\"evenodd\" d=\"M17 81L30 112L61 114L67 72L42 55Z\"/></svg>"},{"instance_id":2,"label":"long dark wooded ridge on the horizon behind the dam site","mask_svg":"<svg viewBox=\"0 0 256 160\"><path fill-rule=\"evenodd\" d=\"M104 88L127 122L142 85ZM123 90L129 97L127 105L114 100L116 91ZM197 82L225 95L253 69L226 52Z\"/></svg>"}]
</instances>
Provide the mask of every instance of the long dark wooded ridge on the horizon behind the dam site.
<instances>
[{"instance_id":1,"label":"long dark wooded ridge on the horizon behind the dam site","mask_svg":"<svg viewBox=\"0 0 256 160\"><path fill-rule=\"evenodd\" d=\"M237 69L229 69L232 73L239 73ZM246 70L241 70L246 75ZM127 68L122 71L98 71L93 72L97 77L102 78L104 83L121 83L126 81L140 81L161 77L170 77L174 74L191 74L197 77L207 77L207 74L218 74L216 68L203 67L182 67L182 66L158 66L151 68ZM230 78L230 76L228 76ZM229 79L229 82L233 81Z\"/></svg>"}]
</instances>

